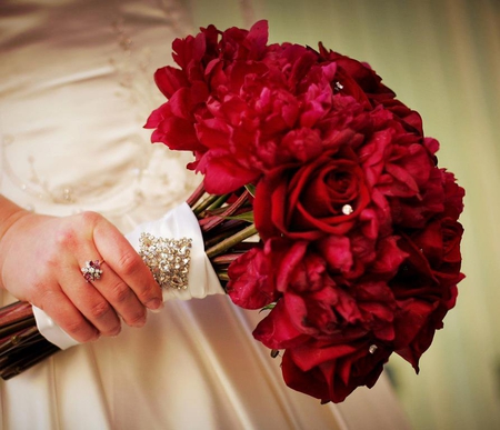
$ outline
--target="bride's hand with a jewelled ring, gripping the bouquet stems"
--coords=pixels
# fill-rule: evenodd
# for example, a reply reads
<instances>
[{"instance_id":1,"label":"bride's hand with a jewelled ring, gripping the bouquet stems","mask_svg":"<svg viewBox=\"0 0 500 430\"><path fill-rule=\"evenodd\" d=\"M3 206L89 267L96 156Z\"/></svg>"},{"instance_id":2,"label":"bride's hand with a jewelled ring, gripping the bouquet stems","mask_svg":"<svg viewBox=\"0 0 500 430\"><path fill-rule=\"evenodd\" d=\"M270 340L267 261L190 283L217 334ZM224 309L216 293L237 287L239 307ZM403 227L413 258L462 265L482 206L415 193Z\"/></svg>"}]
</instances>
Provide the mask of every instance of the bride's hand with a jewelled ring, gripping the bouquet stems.
<instances>
[{"instance_id":1,"label":"bride's hand with a jewelled ring, gripping the bouquet stems","mask_svg":"<svg viewBox=\"0 0 500 430\"><path fill-rule=\"evenodd\" d=\"M162 307L149 269L100 214L54 218L21 211L13 218L0 236L0 286L42 309L77 341L118 334L120 317L141 327L147 308ZM101 262L102 276L88 282L81 268L89 260Z\"/></svg>"}]
</instances>

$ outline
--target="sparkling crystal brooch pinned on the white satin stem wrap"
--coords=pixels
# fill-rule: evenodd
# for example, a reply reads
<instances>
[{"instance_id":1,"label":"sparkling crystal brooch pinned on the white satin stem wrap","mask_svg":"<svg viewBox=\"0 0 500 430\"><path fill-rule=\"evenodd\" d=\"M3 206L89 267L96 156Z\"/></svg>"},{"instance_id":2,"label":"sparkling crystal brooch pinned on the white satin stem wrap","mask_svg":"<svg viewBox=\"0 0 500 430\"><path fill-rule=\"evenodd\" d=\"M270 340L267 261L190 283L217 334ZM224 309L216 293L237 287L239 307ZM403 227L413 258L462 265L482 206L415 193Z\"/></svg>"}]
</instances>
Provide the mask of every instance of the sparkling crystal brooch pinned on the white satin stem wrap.
<instances>
[{"instance_id":1,"label":"sparkling crystal brooch pinned on the white satin stem wrap","mask_svg":"<svg viewBox=\"0 0 500 430\"><path fill-rule=\"evenodd\" d=\"M188 288L191 239L166 239L142 233L139 242L139 254L161 288L177 290Z\"/></svg>"}]
</instances>

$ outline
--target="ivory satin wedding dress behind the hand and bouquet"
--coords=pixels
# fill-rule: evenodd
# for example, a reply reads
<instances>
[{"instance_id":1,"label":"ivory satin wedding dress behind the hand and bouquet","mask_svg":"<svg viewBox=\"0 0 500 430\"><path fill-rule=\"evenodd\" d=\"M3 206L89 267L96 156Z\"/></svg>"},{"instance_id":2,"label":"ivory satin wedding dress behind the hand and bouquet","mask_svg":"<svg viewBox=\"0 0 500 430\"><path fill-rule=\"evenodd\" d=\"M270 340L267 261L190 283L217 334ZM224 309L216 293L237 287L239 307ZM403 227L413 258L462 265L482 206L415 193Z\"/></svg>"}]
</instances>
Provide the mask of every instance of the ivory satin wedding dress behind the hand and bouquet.
<instances>
[{"instance_id":1,"label":"ivory satin wedding dress behind the hand and bouquet","mask_svg":"<svg viewBox=\"0 0 500 430\"><path fill-rule=\"evenodd\" d=\"M41 213L99 211L123 232L183 201L201 179L189 154L141 127L189 17L173 0L2 0L1 193ZM383 377L339 406L288 389L251 336L258 319L224 296L169 301L143 329L0 381L0 430L408 428Z\"/></svg>"}]
</instances>

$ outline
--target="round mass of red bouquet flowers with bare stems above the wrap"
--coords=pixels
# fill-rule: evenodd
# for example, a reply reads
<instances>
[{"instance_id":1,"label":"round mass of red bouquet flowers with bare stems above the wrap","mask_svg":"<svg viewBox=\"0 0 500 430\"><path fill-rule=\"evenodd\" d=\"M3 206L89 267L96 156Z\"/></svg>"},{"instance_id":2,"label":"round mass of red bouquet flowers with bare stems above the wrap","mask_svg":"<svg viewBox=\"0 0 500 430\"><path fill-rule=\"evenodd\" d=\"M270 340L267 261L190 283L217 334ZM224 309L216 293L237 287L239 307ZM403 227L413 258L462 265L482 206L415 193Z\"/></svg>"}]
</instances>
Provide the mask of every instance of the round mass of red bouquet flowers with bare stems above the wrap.
<instances>
[{"instance_id":1,"label":"round mass of red bouquet flowers with bare stems above the wrap","mask_svg":"<svg viewBox=\"0 0 500 430\"><path fill-rule=\"evenodd\" d=\"M209 26L173 58L146 127L193 153L207 256L237 306L264 312L253 336L284 382L340 402L392 352L418 371L463 278L464 196L420 116L366 63L269 44L266 21Z\"/></svg>"}]
</instances>

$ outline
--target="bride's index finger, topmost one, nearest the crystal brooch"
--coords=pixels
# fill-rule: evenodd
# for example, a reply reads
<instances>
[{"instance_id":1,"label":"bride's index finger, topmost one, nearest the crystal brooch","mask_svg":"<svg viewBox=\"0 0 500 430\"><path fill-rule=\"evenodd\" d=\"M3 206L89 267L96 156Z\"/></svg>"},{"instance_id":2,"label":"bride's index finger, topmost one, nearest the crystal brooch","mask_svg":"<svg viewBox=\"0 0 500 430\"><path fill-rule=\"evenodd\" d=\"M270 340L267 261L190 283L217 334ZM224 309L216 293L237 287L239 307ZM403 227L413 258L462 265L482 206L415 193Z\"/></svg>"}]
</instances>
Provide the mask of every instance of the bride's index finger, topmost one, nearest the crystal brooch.
<instances>
[{"instance_id":1,"label":"bride's index finger, topmost one, nearest the crystal brooch","mask_svg":"<svg viewBox=\"0 0 500 430\"><path fill-rule=\"evenodd\" d=\"M163 307L161 289L129 241L112 224L96 226L94 244L107 264L128 284L149 309Z\"/></svg>"}]
</instances>

